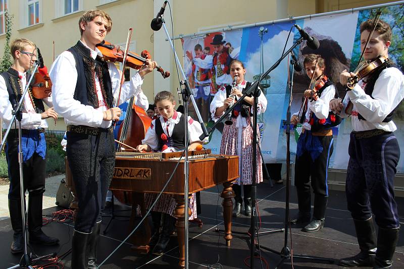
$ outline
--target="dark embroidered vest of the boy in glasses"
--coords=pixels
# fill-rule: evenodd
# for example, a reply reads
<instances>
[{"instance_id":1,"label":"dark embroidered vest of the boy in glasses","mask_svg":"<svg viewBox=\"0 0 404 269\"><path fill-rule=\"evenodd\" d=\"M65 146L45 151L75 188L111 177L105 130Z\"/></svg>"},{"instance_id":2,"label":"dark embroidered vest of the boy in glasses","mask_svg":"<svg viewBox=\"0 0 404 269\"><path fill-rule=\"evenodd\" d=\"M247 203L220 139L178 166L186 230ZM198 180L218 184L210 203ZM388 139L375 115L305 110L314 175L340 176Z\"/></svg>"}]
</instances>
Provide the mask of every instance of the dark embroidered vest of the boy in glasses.
<instances>
[{"instance_id":1,"label":"dark embroidered vest of the boy in glasses","mask_svg":"<svg viewBox=\"0 0 404 269\"><path fill-rule=\"evenodd\" d=\"M6 72L1 74L6 81L7 91L9 92L9 100L14 108L15 105L20 101L22 93L24 89L22 89L21 80L18 77L18 71L12 68L9 68ZM28 82L28 78L27 78ZM31 84L35 83L35 78L32 79ZM31 87L29 87L27 94L29 95L32 104L34 105L34 109L36 113L43 113L45 111L45 107L43 106L42 99L36 99L32 95Z\"/></svg>"}]
</instances>

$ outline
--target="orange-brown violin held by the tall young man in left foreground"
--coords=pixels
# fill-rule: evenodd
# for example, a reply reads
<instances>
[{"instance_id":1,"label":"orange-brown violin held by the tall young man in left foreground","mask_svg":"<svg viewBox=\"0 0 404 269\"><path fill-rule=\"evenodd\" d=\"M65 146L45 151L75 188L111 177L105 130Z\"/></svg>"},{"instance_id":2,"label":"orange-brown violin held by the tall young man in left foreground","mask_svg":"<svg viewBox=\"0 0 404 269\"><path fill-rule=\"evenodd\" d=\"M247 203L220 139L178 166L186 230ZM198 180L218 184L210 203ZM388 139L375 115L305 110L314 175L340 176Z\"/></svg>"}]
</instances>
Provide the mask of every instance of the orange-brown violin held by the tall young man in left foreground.
<instances>
[{"instance_id":1,"label":"orange-brown violin held by the tall young man in left foreground","mask_svg":"<svg viewBox=\"0 0 404 269\"><path fill-rule=\"evenodd\" d=\"M110 42L104 40L102 43L95 45L95 47L97 47L99 51L103 54L103 58L105 60L109 60L112 62L124 61L125 51L121 49L121 46L111 44ZM150 53L147 50L143 50L140 55L136 54L135 52L128 51L126 57L126 65L129 66L130 68L139 70L145 63L145 61L150 58L151 58ZM168 71L165 72L161 68L161 66L157 66L156 69L161 73L163 78L170 77L170 72Z\"/></svg>"}]
</instances>

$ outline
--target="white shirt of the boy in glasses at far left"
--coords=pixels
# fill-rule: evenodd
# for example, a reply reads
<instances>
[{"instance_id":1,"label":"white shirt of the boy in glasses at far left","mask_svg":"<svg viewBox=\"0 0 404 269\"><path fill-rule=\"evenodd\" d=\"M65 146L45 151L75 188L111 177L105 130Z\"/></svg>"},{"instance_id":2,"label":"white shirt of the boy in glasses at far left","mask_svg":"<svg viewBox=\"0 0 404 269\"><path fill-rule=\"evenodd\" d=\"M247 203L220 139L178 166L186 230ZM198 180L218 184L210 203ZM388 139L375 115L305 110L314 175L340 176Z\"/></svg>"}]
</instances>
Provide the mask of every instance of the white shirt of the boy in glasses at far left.
<instances>
[{"instance_id":1,"label":"white shirt of the boy in glasses at far left","mask_svg":"<svg viewBox=\"0 0 404 269\"><path fill-rule=\"evenodd\" d=\"M22 90L27 85L26 73L18 72L21 78ZM33 78L34 79L34 78ZM18 89L17 89L18 90ZM42 99L47 106L52 107L52 95ZM10 103L9 92L7 91L6 80L3 76L0 76L0 117L3 119L3 128L7 128L11 119L13 118L13 107ZM13 125L14 127L14 125ZM23 129L37 129L47 128L47 122L45 119L41 119L41 114L36 113L32 104L29 93L24 97L24 108L22 113L21 127Z\"/></svg>"}]
</instances>

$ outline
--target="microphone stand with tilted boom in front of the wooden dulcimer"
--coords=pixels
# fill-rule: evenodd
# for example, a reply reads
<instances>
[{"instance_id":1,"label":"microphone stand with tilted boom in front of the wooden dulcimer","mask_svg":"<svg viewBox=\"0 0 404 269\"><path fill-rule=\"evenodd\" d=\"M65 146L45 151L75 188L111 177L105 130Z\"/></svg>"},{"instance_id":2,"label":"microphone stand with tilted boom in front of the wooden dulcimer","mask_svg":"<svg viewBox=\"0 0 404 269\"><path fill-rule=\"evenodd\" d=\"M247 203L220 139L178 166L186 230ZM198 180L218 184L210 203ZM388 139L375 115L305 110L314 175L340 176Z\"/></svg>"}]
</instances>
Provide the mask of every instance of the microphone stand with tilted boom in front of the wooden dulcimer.
<instances>
[{"instance_id":1,"label":"microphone stand with tilted boom in front of the wooden dulcimer","mask_svg":"<svg viewBox=\"0 0 404 269\"><path fill-rule=\"evenodd\" d=\"M177 53L175 52L175 48L174 48L174 44L171 40L170 34L167 31L167 27L166 27L166 21L164 20L163 17L159 17L161 18L161 22L163 25L163 29L164 32L166 33L167 39L170 42L171 45L171 49L173 50L174 56L175 56L175 61L177 62L177 65L179 66L179 70L181 71L181 75L183 80L180 82L181 85L184 86L184 89L181 90L182 93L182 98L184 101L184 118L185 118L185 141L188 141L188 101L189 99L192 102L193 107L195 108L195 112L196 115L198 117L198 120L200 122L200 126L202 127L202 130L204 132L204 138L209 136L208 130L206 129L205 123L199 113L199 109L196 106L196 102L195 99L193 98L193 93L191 88L189 87L189 83L186 79L184 70L182 69L181 63L178 59ZM189 266L189 244L188 244L188 226L189 226L189 216L188 216L188 192L189 192L189 186L188 186L188 181L189 181L189 160L188 160L188 145L185 145L185 158L184 158L184 175L185 175L185 179L184 179L184 223L185 223L185 227L184 227L184 244L185 244L185 249L184 249L184 256L185 256L185 263L184 266L187 269ZM181 260L180 260L181 263ZM182 264L180 264L182 266Z\"/></svg>"}]
</instances>

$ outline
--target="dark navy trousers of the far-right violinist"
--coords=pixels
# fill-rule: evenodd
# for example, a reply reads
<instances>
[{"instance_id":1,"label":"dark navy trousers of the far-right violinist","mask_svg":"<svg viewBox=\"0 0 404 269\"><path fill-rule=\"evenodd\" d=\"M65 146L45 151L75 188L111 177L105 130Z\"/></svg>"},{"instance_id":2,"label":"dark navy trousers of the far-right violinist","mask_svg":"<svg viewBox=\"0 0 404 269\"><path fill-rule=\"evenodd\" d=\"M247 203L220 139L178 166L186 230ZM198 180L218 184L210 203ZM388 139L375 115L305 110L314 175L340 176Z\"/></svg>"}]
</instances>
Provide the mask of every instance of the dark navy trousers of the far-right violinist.
<instances>
[{"instance_id":1,"label":"dark navy trousers of the far-right violinist","mask_svg":"<svg viewBox=\"0 0 404 269\"><path fill-rule=\"evenodd\" d=\"M394 134L356 139L351 133L348 152L345 193L352 218L365 221L373 212L379 227L399 227L393 186L400 149Z\"/></svg>"}]
</instances>

